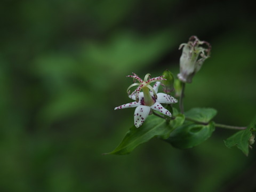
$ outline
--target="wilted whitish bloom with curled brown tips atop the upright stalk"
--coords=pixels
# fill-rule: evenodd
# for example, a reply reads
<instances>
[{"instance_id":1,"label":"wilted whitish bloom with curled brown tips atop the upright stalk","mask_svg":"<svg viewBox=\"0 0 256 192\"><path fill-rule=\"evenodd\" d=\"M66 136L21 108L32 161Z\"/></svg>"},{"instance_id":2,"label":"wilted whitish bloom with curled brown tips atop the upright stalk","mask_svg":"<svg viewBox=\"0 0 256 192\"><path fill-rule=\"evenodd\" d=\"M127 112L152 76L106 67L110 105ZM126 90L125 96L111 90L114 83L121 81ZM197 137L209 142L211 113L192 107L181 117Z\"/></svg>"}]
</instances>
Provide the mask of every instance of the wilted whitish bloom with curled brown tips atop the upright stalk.
<instances>
[{"instance_id":1,"label":"wilted whitish bloom with curled brown tips atop the upright stalk","mask_svg":"<svg viewBox=\"0 0 256 192\"><path fill-rule=\"evenodd\" d=\"M203 44L206 44L207 48L202 47ZM191 83L193 76L201 69L204 60L210 57L211 45L200 41L196 36L191 36L188 43L182 43L179 49L182 47L178 78L184 83Z\"/></svg>"}]
</instances>

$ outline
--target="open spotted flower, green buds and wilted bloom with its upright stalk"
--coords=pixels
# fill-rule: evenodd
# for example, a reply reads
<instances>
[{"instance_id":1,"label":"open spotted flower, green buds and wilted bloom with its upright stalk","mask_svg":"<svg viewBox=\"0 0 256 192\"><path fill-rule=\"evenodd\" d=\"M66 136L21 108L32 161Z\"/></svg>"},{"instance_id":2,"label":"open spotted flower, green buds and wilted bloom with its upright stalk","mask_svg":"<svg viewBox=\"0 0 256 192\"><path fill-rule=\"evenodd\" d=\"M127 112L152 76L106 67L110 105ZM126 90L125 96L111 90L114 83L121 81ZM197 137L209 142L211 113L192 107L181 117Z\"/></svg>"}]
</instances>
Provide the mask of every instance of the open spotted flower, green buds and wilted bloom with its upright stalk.
<instances>
[{"instance_id":1,"label":"open spotted flower, green buds and wilted bloom with its upright stalk","mask_svg":"<svg viewBox=\"0 0 256 192\"><path fill-rule=\"evenodd\" d=\"M206 45L206 48L202 45ZM172 116L170 111L165 109L161 103L172 104L178 102L177 99L170 95L174 91L174 87L176 95L180 97L180 109L181 113L183 113L184 83L191 83L193 76L201 69L205 59L210 57L211 45L205 41L200 41L196 36L191 36L188 43L182 43L179 49L182 47L180 73L178 74L179 79L177 81L174 81L174 76L169 70L165 70L163 76L155 78L151 78L150 74L147 74L143 80L134 73L127 76L132 77L135 81L127 89L129 98L135 101L118 106L115 110L136 107L134 111L134 125L137 128L145 122L149 114L154 113L154 110L166 116ZM150 84L153 82L156 83L154 86L151 86ZM163 85L165 93L157 93L159 85ZM133 86L137 86L137 88L131 93L130 89Z\"/></svg>"}]
</instances>

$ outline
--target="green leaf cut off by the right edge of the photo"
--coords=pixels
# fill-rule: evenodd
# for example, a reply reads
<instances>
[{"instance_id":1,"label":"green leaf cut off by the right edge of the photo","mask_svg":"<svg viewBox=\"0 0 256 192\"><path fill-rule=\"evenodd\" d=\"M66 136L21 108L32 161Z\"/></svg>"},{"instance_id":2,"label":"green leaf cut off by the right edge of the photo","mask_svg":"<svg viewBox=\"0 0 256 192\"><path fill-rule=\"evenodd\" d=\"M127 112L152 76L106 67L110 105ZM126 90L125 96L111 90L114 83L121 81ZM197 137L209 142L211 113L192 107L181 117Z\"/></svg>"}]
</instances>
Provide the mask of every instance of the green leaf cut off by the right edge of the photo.
<instances>
[{"instance_id":1,"label":"green leaf cut off by the right edge of the photo","mask_svg":"<svg viewBox=\"0 0 256 192\"><path fill-rule=\"evenodd\" d=\"M242 150L243 153L248 156L249 146L254 143L254 135L256 132L256 116L253 121L245 130L238 131L228 139L224 140L225 145L228 148L236 146L238 149Z\"/></svg>"}]
</instances>

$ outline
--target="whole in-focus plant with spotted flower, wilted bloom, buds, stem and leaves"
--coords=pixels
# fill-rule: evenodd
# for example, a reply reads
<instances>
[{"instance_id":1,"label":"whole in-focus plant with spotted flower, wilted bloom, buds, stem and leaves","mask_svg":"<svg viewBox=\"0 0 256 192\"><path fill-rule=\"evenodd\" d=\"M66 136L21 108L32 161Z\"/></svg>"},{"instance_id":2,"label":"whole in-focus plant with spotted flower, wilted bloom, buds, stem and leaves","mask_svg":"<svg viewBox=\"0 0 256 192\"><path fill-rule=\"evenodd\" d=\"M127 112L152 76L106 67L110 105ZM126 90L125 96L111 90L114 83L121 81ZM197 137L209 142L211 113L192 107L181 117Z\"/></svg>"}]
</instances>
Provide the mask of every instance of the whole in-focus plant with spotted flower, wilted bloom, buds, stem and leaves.
<instances>
[{"instance_id":1,"label":"whole in-focus plant with spotted flower, wilted bloom, buds, stem and leaves","mask_svg":"<svg viewBox=\"0 0 256 192\"><path fill-rule=\"evenodd\" d=\"M201 46L203 44L207 45L207 49ZM178 79L175 80L171 71L167 69L164 71L163 76L151 78L150 74L147 74L144 80L135 73L127 76L132 77L134 82L139 81L139 83L133 83L127 89L129 90L127 92L129 98L136 100L136 102L116 107L115 110L136 107L134 113L135 126L126 133L119 146L107 154L129 154L135 147L149 141L153 137L162 138L176 148L192 148L210 138L215 130L215 126L228 129L243 129L228 138L225 144L229 148L237 146L245 155L249 154L249 146L251 147L254 143L254 132L256 130L255 121L247 128L234 127L214 123L212 119L217 115L217 110L213 108L192 108L184 113L183 97L185 85L186 83L192 82L192 78L198 70L201 69L203 62L209 58L211 45L208 42L200 41L196 36L191 36L189 42L182 43L180 47L182 46L183 50L180 57L180 73L177 75ZM174 86L174 81L179 83L175 83ZM150 83L153 82L157 83L152 87ZM162 84L165 93L157 93L160 84ZM130 89L133 86L138 87L131 93ZM171 96L174 88L177 90L175 95L179 97L180 114L178 114L177 109L175 109L172 116L172 105L177 102L177 99ZM160 103L167 103L168 105L163 107ZM155 113L154 110L162 114ZM146 119L150 113L153 113L156 117L151 116L146 123L143 124L144 119ZM162 119L159 119L159 117ZM141 126L142 124L143 126Z\"/></svg>"}]
</instances>

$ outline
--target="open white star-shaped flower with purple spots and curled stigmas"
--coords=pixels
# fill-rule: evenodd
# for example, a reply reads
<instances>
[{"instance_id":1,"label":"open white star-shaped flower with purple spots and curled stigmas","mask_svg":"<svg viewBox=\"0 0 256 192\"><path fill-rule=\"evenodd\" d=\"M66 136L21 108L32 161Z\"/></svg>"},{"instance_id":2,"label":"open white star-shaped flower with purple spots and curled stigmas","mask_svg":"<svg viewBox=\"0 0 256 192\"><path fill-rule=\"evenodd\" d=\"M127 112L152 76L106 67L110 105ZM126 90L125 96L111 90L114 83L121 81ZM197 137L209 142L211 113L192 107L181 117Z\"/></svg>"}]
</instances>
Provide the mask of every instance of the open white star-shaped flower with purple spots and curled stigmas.
<instances>
[{"instance_id":1,"label":"open white star-shaped flower with purple spots and curled stigmas","mask_svg":"<svg viewBox=\"0 0 256 192\"><path fill-rule=\"evenodd\" d=\"M138 88L132 94L129 95L131 99L136 101L126 103L122 106L118 106L115 108L116 110L116 109L136 107L134 111L134 125L137 128L145 122L146 118L148 117L152 109L171 117L172 114L170 113L170 111L165 109L161 105L161 103L171 104L171 103L178 102L177 99L171 97L170 95L167 95L165 93L157 93L158 87L161 84L161 82L159 81L165 80L164 78L162 78L163 76L159 76L159 77L155 77L147 80L148 76L149 74L145 76L144 81L142 81L142 79L138 77L136 74L133 74L133 76L132 75L128 76L128 77L133 77L140 82L140 83L132 84L127 89L127 91L129 92L132 86L138 85ZM152 82L156 82L154 87L151 87L151 85L149 85ZM143 92L140 92L141 89Z\"/></svg>"}]
</instances>

